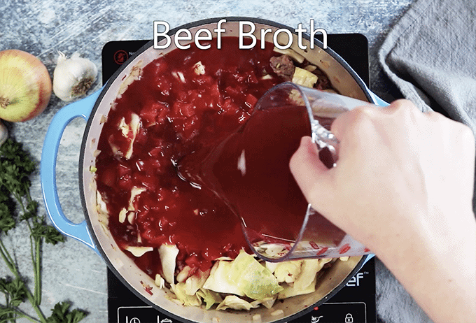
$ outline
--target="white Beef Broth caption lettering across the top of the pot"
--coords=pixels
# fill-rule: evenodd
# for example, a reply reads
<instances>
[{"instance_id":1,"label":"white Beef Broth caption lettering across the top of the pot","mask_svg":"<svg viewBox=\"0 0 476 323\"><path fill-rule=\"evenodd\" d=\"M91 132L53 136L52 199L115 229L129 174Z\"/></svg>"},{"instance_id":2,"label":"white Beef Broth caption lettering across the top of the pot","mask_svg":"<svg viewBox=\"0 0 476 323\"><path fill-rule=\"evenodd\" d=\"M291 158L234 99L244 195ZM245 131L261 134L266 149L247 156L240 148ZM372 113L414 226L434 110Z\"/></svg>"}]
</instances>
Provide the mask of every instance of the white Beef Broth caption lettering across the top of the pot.
<instances>
[{"instance_id":1,"label":"white Beef Broth caption lettering across the top of the pot","mask_svg":"<svg viewBox=\"0 0 476 323\"><path fill-rule=\"evenodd\" d=\"M156 50L163 50L168 48L172 44L172 37L168 34L170 31L170 25L164 21L154 21L154 30L153 30L153 39L154 39L154 48ZM226 20L222 19L217 22L216 28L201 28L198 29L195 34L189 29L181 28L176 31L174 34L174 44L176 48L181 50L186 50L190 48L190 41L194 41L197 48L201 50L207 50L211 47L210 41L214 39L212 31L216 35L216 46L218 49L221 49L221 35L227 32L224 24ZM255 34L260 35L260 48L265 48L265 36L267 34L272 34L273 43L276 48L280 50L286 50L293 45L293 41L297 41L297 47L302 50L307 50L307 46L302 43L302 37L304 34L309 34L309 48L314 49L314 37L316 34L322 34L323 36L323 48L327 48L327 32L322 29L314 29L314 20L310 20L309 31L305 28L302 28L302 24L297 24L297 29L294 29L297 34L297 40L293 38L293 32L287 28L280 28L273 31L271 28L261 28L259 32L256 30L254 22L249 21L240 21L239 22L239 49L240 50L249 50L255 45L258 44L258 40ZM165 38L165 43L162 41ZM246 40L246 41L245 41Z\"/></svg>"}]
</instances>

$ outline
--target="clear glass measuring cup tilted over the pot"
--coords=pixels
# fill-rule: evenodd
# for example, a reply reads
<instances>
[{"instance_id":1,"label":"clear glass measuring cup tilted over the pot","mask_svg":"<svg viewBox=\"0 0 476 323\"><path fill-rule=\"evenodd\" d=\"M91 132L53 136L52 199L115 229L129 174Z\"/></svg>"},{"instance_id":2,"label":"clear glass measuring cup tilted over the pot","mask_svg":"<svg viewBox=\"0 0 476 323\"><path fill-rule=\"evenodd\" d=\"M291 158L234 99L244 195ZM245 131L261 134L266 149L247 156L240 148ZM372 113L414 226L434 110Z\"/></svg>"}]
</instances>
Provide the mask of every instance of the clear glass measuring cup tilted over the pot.
<instances>
[{"instance_id":1,"label":"clear glass measuring cup tilted over the pot","mask_svg":"<svg viewBox=\"0 0 476 323\"><path fill-rule=\"evenodd\" d=\"M316 212L310 204L302 200L302 196L291 198L295 204L289 206L288 209L293 208L295 210L295 212L291 211L293 215L287 214L288 209L286 206L282 206L285 204L281 203L282 199L296 194L294 192L294 185L296 184L293 178L290 178L288 164L290 155L297 149L303 132L295 135L288 132L284 136L280 136L279 132L276 132L280 131L278 124L272 125L267 130L271 134L268 134L265 138L255 136L256 133L253 131L253 129L258 127L266 127L260 125L267 124L268 122L262 123L264 118L260 120L260 118L255 117L255 114L259 115L263 111L274 110L276 115L282 112L283 119L286 119L289 118L290 110L294 109L297 115L302 115L296 121L297 127L294 129L304 129L304 134L307 133L313 138L314 143L318 146L320 159L328 168L331 168L337 162L339 151L339 141L330 132L332 120L340 113L365 104L368 103L334 93L309 89L291 82L284 82L269 89L256 103L255 112L242 130L244 135L241 141L255 140L264 142L264 144L261 146L257 144L255 147L248 149L249 151L246 151L246 145L244 145L241 155L246 158L243 158L244 160L241 161L246 166L242 165L242 168L246 169L248 164L251 164L251 167L259 168L262 171L265 167L272 167L269 166L269 159L282 158L284 162L281 163L281 169L277 171L275 169L269 171L269 173L274 172L274 176L285 177L283 181L276 185L282 186L286 180L290 182L288 188L284 189L284 192L281 192L282 194L274 200L273 196L268 196L271 202L267 203L267 206L270 208L267 210L263 208L262 210L253 209L252 212L247 212L246 206L239 205L240 201L231 201L233 206L237 208L237 213L241 215L244 236L248 245L260 258L267 261L283 261L302 258L346 257L371 253L364 245L355 241L351 236L326 220L323 215ZM302 111L304 111L303 114ZM265 117L269 119L269 115ZM290 118L285 122L289 120ZM292 120L289 122L293 124ZM286 125L286 127L288 126ZM248 136L246 136L246 133L248 133ZM278 137L277 141L272 141L274 139L272 137L276 136ZM293 136L295 138L289 138ZM269 138L272 138L272 140ZM264 156L261 154L262 158L256 157L254 160L253 157L250 157L250 155L253 155L253 150L255 155L258 155L258 150L262 150L262 147L265 147L265 145L276 145L276 143L281 143L281 141L283 141L281 147L274 147L276 154ZM284 145L290 146L288 152L283 151ZM270 150L266 151L269 152ZM265 163L268 164L263 167ZM260 176L261 173L253 175L256 177ZM267 177L263 178L269 180L271 176L267 174ZM273 185L274 183L272 182L271 185L264 185L260 188L272 191ZM260 199L263 199L263 196L260 196ZM250 199L250 201L253 200ZM274 207L273 203L281 203L282 205L280 208L272 209ZM243 200L241 200L241 204L244 204ZM252 205L250 208L254 208L254 206ZM279 213L279 210L283 210L283 213ZM299 213L302 213L300 217ZM296 217L296 215L298 216Z\"/></svg>"}]
</instances>

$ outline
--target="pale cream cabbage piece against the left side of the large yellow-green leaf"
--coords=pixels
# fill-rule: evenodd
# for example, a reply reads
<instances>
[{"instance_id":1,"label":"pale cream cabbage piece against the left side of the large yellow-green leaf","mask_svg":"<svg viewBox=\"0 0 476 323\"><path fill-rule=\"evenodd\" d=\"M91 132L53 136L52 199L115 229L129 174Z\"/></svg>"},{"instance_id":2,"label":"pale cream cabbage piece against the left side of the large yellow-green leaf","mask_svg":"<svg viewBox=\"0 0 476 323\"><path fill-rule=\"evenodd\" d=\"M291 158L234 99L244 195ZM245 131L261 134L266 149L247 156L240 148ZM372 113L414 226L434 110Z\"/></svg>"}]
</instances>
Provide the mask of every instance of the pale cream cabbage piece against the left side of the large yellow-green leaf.
<instances>
[{"instance_id":1,"label":"pale cream cabbage piece against the left side of the large yellow-green leaf","mask_svg":"<svg viewBox=\"0 0 476 323\"><path fill-rule=\"evenodd\" d=\"M244 296L244 292L235 282L228 280L228 273L232 270L232 261L216 261L211 268L209 278L205 281L203 288L210 289L217 293L235 294Z\"/></svg>"}]
</instances>

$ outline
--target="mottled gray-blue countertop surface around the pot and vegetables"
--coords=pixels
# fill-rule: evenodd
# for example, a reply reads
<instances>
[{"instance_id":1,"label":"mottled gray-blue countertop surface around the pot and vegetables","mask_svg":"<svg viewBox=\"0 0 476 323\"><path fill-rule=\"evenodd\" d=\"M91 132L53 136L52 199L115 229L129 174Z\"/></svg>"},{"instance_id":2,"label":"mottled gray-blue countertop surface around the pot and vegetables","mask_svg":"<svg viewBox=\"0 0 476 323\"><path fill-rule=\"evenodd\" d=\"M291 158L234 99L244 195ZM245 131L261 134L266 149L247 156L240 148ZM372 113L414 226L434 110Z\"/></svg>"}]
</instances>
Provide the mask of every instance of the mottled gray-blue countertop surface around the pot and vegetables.
<instances>
[{"instance_id":1,"label":"mottled gray-blue countertop surface around the pot and vegetables","mask_svg":"<svg viewBox=\"0 0 476 323\"><path fill-rule=\"evenodd\" d=\"M367 37L370 50L370 88L382 99L401 96L381 71L377 51L393 24L413 0L288 0L288 1L113 1L113 0L0 0L0 50L18 48L36 55L52 75L57 51L66 55L80 52L99 68L101 52L108 41L151 39L153 20L169 22L172 28L210 17L244 16L274 20L290 27L309 24L328 34L360 33ZM92 89L92 90L94 90ZM39 161L50 120L66 103L52 96L48 108L28 122L7 123L10 134ZM59 199L69 219L84 220L78 189L78 156L85 121L73 120L64 132L57 160ZM32 178L32 195L41 201L39 174ZM30 272L29 241L20 227L5 238L15 250L20 268ZM25 229L25 228L23 228ZM74 307L90 314L83 322L106 322L106 264L78 241L43 247L43 311L49 315L52 304L69 300ZM8 274L0 263L0 277ZM3 299L0 299L0 304ZM405 307L395 304L405 304ZM401 285L377 259L377 309L380 322L415 322L411 317L427 319ZM393 317L393 318L391 318ZM396 317L396 319L395 319Z\"/></svg>"}]
</instances>

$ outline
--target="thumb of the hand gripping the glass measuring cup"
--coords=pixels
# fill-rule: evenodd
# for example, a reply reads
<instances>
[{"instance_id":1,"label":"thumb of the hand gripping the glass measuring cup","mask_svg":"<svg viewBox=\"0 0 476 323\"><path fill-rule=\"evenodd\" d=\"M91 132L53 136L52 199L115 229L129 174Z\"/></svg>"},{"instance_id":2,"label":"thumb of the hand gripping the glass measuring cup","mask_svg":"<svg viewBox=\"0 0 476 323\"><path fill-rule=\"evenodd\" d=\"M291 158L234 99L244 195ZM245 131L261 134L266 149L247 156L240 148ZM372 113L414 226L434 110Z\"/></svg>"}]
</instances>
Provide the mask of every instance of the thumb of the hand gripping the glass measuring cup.
<instances>
[{"instance_id":1,"label":"thumb of the hand gripping the glass measuring cup","mask_svg":"<svg viewBox=\"0 0 476 323\"><path fill-rule=\"evenodd\" d=\"M317 146L311 137L301 138L299 148L289 161L289 167L307 202L315 210L319 210L322 201L328 201L330 194L330 170L319 159Z\"/></svg>"}]
</instances>

